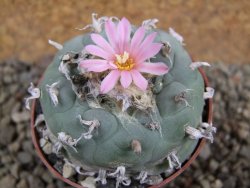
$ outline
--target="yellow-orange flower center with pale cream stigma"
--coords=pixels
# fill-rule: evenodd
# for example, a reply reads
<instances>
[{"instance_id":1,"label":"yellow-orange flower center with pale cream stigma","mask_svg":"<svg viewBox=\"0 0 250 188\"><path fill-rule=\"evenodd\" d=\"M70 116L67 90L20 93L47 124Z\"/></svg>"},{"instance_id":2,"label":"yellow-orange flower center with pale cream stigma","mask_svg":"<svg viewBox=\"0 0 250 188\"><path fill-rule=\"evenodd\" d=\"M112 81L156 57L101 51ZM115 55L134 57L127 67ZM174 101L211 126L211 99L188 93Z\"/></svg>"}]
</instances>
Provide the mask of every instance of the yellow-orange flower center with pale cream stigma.
<instances>
[{"instance_id":1,"label":"yellow-orange flower center with pale cream stigma","mask_svg":"<svg viewBox=\"0 0 250 188\"><path fill-rule=\"evenodd\" d=\"M119 70L131 70L134 67L134 60L129 57L128 52L124 52L122 55L115 55L115 65Z\"/></svg>"}]
</instances>

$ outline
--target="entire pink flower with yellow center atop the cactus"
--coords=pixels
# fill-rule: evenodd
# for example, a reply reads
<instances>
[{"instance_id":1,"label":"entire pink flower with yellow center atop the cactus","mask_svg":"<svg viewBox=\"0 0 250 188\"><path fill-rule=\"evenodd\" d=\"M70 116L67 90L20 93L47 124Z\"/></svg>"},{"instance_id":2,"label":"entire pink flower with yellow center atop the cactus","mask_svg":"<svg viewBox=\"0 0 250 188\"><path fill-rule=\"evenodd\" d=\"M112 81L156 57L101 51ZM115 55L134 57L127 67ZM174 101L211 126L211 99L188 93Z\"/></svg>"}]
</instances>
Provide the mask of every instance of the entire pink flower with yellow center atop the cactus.
<instances>
[{"instance_id":1,"label":"entire pink flower with yellow center atop the cactus","mask_svg":"<svg viewBox=\"0 0 250 188\"><path fill-rule=\"evenodd\" d=\"M111 20L105 22L108 41L99 34L91 34L96 45L87 45L85 50L100 59L85 59L80 66L87 71L103 72L109 70L101 83L101 92L107 93L120 78L124 88L132 82L142 90L146 90L148 81L141 73L163 75L168 72L168 66L162 62L150 63L147 60L155 56L162 44L154 43L156 32L145 37L145 28L140 27L130 38L131 25L123 18L117 25Z\"/></svg>"}]
</instances>

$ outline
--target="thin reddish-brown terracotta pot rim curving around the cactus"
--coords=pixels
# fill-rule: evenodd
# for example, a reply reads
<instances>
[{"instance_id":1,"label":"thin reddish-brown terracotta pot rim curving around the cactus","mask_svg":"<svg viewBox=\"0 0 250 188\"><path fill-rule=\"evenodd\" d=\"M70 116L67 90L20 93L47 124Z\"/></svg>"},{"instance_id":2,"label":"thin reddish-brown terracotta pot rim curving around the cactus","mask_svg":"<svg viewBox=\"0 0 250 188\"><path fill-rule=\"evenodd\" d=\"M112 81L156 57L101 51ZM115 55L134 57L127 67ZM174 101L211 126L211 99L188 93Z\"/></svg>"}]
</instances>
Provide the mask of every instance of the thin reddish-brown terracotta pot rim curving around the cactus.
<instances>
[{"instance_id":1,"label":"thin reddish-brown terracotta pot rim curving around the cactus","mask_svg":"<svg viewBox=\"0 0 250 188\"><path fill-rule=\"evenodd\" d=\"M204 73L204 71L199 68L200 73L203 76L204 79L204 83L205 86L209 86L209 82L208 79ZM32 141L33 144L35 146L35 149L37 151L38 156L40 157L40 159L42 160L42 162L45 164L45 166L50 170L50 172L57 177L58 179L64 181L65 183L75 187L75 188L82 188L81 185L79 185L78 183L75 183L67 178L64 178L62 176L62 174L60 174L51 164L50 162L47 160L46 155L43 153L40 145L39 145L39 137L37 134L37 131L35 129L35 118L36 118L36 101L33 101L32 103L32 109L31 109L31 122L30 122L30 126L31 126L31 134L32 134ZM208 123L212 123L212 118L213 118L213 101L212 99L208 99L206 101L206 105L204 107L204 112L205 112L205 120ZM174 180L177 176L179 176L184 170L186 170L190 164L196 159L196 157L199 155L199 153L201 152L202 147L204 146L206 140L200 139L196 149L194 150L194 152L192 153L192 155L190 156L190 158L185 161L184 163L182 163L182 168L176 170L173 174L171 174L169 177L167 177L166 179L164 179L160 184L158 185L154 185L154 186L150 186L149 188L160 188L160 187L164 187L166 184L168 184L169 182L171 182L172 180Z\"/></svg>"}]
</instances>

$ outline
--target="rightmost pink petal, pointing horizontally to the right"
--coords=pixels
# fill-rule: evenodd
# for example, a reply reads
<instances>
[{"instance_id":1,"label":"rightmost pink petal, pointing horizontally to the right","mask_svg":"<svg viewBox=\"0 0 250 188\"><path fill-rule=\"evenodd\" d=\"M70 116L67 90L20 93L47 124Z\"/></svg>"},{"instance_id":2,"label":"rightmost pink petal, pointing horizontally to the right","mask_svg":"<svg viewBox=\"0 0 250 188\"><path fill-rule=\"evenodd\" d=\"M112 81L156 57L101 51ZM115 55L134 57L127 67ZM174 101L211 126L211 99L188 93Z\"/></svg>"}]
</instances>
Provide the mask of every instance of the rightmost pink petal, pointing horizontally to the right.
<instances>
[{"instance_id":1,"label":"rightmost pink petal, pointing horizontally to the right","mask_svg":"<svg viewBox=\"0 0 250 188\"><path fill-rule=\"evenodd\" d=\"M160 62L160 63L140 63L136 66L136 70L154 75L163 75L166 74L169 69L166 64Z\"/></svg>"}]
</instances>

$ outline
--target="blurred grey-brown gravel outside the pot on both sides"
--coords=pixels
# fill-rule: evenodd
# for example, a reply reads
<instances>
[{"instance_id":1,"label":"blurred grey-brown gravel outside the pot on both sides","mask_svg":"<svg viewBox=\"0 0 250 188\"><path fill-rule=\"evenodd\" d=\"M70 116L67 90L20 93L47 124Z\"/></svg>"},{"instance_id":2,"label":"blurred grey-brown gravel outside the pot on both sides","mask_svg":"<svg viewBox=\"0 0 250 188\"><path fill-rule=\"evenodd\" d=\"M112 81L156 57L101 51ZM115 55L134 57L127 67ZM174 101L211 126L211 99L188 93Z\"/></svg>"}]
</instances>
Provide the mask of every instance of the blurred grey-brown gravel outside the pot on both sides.
<instances>
[{"instance_id":1,"label":"blurred grey-brown gravel outside the pot on both sides","mask_svg":"<svg viewBox=\"0 0 250 188\"><path fill-rule=\"evenodd\" d=\"M37 82L45 62L0 62L0 188L69 187L53 178L37 157L30 112L23 105L29 83ZM250 187L250 65L212 63L207 73L216 89L215 142L207 143L191 167L167 187Z\"/></svg>"}]
</instances>

